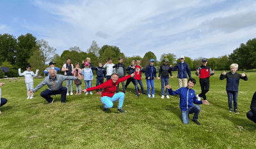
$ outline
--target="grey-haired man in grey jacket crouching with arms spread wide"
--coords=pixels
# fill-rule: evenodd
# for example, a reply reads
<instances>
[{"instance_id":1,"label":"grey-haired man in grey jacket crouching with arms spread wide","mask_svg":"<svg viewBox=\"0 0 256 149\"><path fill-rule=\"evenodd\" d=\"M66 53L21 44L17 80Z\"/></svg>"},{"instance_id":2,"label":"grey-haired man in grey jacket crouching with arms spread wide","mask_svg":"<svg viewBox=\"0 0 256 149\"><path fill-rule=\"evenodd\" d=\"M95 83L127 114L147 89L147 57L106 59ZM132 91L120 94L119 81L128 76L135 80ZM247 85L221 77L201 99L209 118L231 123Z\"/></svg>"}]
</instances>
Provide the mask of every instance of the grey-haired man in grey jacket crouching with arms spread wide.
<instances>
[{"instance_id":1,"label":"grey-haired man in grey jacket crouching with arms spread wide","mask_svg":"<svg viewBox=\"0 0 256 149\"><path fill-rule=\"evenodd\" d=\"M61 103L66 104L66 95L67 95L67 87L63 87L62 83L64 80L81 80L81 78L77 78L76 76L63 76L56 75L54 69L49 70L50 76L46 76L44 80L39 83L35 89L29 90L29 95L34 94L37 90L44 87L44 85L48 86L48 89L41 92L40 96L42 96L49 104L51 104L54 99L52 99L52 95L61 94Z\"/></svg>"}]
</instances>

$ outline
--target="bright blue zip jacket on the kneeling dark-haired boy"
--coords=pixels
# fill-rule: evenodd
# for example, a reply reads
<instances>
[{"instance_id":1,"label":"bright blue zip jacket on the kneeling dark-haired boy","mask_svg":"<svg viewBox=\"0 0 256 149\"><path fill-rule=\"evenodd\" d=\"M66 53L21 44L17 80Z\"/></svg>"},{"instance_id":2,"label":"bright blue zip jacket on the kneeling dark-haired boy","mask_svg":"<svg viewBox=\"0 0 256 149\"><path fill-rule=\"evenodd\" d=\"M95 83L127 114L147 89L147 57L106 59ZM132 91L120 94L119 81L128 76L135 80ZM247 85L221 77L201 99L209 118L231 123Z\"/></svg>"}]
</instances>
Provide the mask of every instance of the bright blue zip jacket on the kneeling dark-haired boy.
<instances>
[{"instance_id":1,"label":"bright blue zip jacket on the kneeling dark-haired boy","mask_svg":"<svg viewBox=\"0 0 256 149\"><path fill-rule=\"evenodd\" d=\"M195 104L202 104L202 101L198 101L196 99L196 93L193 89L188 89L188 87L180 87L180 89L177 89L176 91L173 91L172 89L168 89L168 92L170 95L179 95L180 96L180 110L186 111L191 106L194 106Z\"/></svg>"}]
</instances>

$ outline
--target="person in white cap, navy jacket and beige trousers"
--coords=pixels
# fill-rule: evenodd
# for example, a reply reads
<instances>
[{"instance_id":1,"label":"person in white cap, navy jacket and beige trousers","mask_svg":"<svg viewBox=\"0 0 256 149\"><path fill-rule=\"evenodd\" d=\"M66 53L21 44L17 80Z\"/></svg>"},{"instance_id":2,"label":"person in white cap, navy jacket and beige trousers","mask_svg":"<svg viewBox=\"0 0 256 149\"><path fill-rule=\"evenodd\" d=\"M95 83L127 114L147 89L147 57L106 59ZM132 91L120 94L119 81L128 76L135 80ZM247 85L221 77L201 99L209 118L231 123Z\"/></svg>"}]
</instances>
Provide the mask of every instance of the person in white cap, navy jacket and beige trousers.
<instances>
[{"instance_id":1,"label":"person in white cap, navy jacket and beige trousers","mask_svg":"<svg viewBox=\"0 0 256 149\"><path fill-rule=\"evenodd\" d=\"M185 57L183 55L180 56L180 62L172 67L172 65L170 66L172 68L172 71L175 71L176 69L178 69L178 80L179 80L179 87L186 87L187 86L187 78L189 76L189 78L191 78L191 72L189 69L189 66L186 62L184 62ZM188 76L187 76L188 73Z\"/></svg>"}]
</instances>

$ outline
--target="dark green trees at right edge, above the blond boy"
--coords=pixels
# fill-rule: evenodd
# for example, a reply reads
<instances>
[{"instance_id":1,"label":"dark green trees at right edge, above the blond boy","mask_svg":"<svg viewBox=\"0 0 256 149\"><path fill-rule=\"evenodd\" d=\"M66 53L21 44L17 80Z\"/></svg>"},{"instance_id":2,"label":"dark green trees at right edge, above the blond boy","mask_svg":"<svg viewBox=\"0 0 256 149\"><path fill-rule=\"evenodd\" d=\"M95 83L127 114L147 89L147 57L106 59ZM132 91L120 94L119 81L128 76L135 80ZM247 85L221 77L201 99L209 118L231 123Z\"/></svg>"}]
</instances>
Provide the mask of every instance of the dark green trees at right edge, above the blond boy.
<instances>
[{"instance_id":1,"label":"dark green trees at right edge, above the blond boy","mask_svg":"<svg viewBox=\"0 0 256 149\"><path fill-rule=\"evenodd\" d=\"M239 69L253 69L256 67L256 38L249 39L246 44L241 43L239 48L229 55L232 63L237 63Z\"/></svg>"}]
</instances>

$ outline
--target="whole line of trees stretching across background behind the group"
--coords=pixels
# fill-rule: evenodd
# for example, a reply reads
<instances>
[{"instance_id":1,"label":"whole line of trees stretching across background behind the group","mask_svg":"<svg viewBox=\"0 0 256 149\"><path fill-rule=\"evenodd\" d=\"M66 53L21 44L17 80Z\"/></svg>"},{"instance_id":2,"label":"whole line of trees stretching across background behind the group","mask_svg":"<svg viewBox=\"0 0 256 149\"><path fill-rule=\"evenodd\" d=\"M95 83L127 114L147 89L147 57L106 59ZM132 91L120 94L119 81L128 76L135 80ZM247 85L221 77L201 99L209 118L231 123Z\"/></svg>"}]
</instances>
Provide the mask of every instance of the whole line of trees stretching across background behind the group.
<instances>
[{"instance_id":1,"label":"whole line of trees stretching across background behind the group","mask_svg":"<svg viewBox=\"0 0 256 149\"><path fill-rule=\"evenodd\" d=\"M171 51L171 50L170 50ZM108 57L112 57L113 63L118 63L118 57L124 59L125 66L131 64L131 60L141 60L141 66L147 67L150 59L155 59L157 69L163 65L163 59L168 58L169 64L173 66L179 63L179 55L173 53L163 53L160 60L156 60L156 55L153 52L145 53L144 57L139 55L133 55L132 57L126 57L120 48L114 45L104 45L101 48L97 45L96 41L92 41L92 45L84 52L79 46L70 47L64 50L61 55L58 55L56 48L49 46L44 39L37 40L32 34L20 35L17 39L10 34L0 34L0 66L8 67L10 71L3 73L0 71L0 78L4 75L8 77L19 76L17 69L20 67L22 70L26 70L28 64L31 65L31 70L35 71L40 69L40 75L44 75L43 71L46 67L49 67L50 61L56 62L56 67L62 67L65 64L68 57L71 58L72 64L82 61L86 61L86 57L90 57L93 66L98 66L99 62L105 64ZM185 55L186 56L186 55ZM191 70L196 70L198 66L202 64L201 60L205 57L198 57L191 59L185 57L185 62L188 63ZM249 39L246 44L241 43L239 48L230 53L230 55L223 55L221 57L211 57L208 59L208 66L215 70L228 70L230 64L239 64L239 69L254 69L256 67L256 39ZM63 74L62 72L60 72Z\"/></svg>"}]
</instances>

